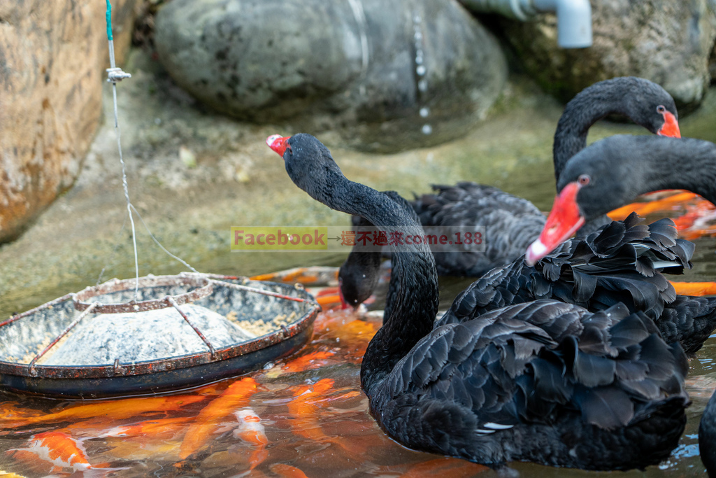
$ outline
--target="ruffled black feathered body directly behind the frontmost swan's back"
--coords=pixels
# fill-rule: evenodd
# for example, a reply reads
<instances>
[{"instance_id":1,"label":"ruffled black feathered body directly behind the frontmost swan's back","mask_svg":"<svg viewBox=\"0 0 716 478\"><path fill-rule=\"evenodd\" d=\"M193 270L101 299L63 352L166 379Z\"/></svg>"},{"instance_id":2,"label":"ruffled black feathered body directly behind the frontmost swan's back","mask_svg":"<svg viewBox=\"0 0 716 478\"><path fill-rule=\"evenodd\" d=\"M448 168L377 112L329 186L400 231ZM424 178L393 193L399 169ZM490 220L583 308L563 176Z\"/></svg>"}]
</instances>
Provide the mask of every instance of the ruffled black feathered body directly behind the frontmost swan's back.
<instances>
[{"instance_id":1,"label":"ruffled black feathered body directly behind the frontmost swan's back","mask_svg":"<svg viewBox=\"0 0 716 478\"><path fill-rule=\"evenodd\" d=\"M473 282L440 324L471 320L505 305L551 298L606 310L619 303L654 320L668 343L695 353L716 328L716 299L677 296L662 272L691 267L691 242L677 239L673 221L648 226L637 214L566 243L533 267L517 260Z\"/></svg>"}]
</instances>

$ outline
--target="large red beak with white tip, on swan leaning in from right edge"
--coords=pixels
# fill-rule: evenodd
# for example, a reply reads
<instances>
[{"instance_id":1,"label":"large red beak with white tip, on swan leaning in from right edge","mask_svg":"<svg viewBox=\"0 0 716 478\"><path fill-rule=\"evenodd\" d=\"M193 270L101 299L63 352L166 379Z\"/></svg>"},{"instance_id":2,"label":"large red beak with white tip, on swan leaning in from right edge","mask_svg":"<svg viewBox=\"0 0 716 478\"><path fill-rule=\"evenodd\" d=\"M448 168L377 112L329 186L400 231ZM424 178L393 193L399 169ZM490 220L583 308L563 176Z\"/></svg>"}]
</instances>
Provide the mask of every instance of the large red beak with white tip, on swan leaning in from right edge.
<instances>
[{"instance_id":1,"label":"large red beak with white tip, on swan leaning in from right edge","mask_svg":"<svg viewBox=\"0 0 716 478\"><path fill-rule=\"evenodd\" d=\"M539 238L530 244L525 253L525 262L534 265L539 259L552 252L584 224L584 216L577 205L577 193L581 185L569 183L554 199L552 211Z\"/></svg>"}]
</instances>

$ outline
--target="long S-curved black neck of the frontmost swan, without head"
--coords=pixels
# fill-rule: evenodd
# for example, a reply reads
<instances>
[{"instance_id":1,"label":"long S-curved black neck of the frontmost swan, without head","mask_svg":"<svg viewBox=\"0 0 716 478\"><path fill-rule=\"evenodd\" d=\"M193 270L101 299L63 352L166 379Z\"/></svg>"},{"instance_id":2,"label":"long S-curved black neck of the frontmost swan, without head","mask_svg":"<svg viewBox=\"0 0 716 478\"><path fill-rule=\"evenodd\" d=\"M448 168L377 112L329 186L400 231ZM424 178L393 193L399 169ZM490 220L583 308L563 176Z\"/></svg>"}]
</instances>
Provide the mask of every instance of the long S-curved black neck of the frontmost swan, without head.
<instances>
[{"instance_id":1,"label":"long S-curved black neck of the frontmost swan, without head","mask_svg":"<svg viewBox=\"0 0 716 478\"><path fill-rule=\"evenodd\" d=\"M392 231L404 235L424 234L405 208L384 193L348 181L332 172L325 181L323 197L314 199L333 209L362 216L389 236ZM310 191L309 191L310 193ZM313 196L313 194L311 194ZM327 196L327 197L326 197ZM437 272L435 259L425 244L402 246L392 255L392 273L388 293L390 316L370 341L361 366L361 383L368 396L392 371L395 364L432 330L437 314Z\"/></svg>"}]
</instances>

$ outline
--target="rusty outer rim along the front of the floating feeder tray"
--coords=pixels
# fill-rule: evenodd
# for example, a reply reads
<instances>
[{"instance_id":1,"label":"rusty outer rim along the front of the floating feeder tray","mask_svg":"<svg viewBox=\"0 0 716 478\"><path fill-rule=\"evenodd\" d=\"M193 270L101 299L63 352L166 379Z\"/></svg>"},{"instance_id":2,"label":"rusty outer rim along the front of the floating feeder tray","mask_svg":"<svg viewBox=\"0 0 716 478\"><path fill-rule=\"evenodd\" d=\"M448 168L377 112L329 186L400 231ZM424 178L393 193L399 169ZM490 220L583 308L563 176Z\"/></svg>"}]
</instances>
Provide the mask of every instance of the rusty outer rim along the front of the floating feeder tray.
<instances>
[{"instance_id":1,"label":"rusty outer rim along the front of the floating feeder tray","mask_svg":"<svg viewBox=\"0 0 716 478\"><path fill-rule=\"evenodd\" d=\"M115 360L113 365L81 365L81 366L51 366L51 365L29 365L4 362L0 360L0 373L26 376L26 377L42 377L42 378L107 378L127 375L142 375L147 373L156 373L170 371L179 368L190 368L194 365L204 363L220 362L228 358L238 355L261 350L275 343L279 343L287 338L301 333L314 322L316 316L321 310L321 306L314 304L306 314L289 326L284 326L270 334L261 335L248 342L239 345L228 345L214 351L207 350L202 353L194 353L190 355L179 355L171 358L159 360L147 360L137 363L118 363Z\"/></svg>"}]
</instances>

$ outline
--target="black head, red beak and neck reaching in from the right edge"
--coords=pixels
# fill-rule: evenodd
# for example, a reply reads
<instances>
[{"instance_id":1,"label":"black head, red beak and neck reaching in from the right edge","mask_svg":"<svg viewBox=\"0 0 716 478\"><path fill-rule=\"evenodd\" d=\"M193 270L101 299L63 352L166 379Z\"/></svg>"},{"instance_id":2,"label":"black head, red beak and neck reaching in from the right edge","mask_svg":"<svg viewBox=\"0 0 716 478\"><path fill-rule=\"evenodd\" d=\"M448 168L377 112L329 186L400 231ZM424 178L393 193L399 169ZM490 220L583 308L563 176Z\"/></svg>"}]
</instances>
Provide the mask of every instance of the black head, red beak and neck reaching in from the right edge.
<instances>
[{"instance_id":1,"label":"black head, red beak and neck reaching in from the right edge","mask_svg":"<svg viewBox=\"0 0 716 478\"><path fill-rule=\"evenodd\" d=\"M716 204L716 145L683 138L616 135L599 140L566 164L539 238L525 254L534 264L586 221L629 204L639 194L686 189Z\"/></svg>"}]
</instances>

